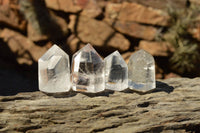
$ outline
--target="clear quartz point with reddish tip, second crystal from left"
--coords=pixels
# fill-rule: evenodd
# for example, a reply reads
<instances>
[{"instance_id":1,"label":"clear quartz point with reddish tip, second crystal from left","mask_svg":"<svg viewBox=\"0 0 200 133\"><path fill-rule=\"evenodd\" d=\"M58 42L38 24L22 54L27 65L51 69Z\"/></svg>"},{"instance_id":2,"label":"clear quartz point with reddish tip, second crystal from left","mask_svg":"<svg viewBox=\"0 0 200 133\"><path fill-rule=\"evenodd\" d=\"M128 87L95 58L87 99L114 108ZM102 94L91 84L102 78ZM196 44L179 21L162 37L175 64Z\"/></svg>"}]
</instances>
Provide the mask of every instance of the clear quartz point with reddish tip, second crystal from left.
<instances>
[{"instance_id":1,"label":"clear quartz point with reddish tip, second crystal from left","mask_svg":"<svg viewBox=\"0 0 200 133\"><path fill-rule=\"evenodd\" d=\"M104 62L87 44L72 57L72 88L74 91L96 93L105 89Z\"/></svg>"}]
</instances>

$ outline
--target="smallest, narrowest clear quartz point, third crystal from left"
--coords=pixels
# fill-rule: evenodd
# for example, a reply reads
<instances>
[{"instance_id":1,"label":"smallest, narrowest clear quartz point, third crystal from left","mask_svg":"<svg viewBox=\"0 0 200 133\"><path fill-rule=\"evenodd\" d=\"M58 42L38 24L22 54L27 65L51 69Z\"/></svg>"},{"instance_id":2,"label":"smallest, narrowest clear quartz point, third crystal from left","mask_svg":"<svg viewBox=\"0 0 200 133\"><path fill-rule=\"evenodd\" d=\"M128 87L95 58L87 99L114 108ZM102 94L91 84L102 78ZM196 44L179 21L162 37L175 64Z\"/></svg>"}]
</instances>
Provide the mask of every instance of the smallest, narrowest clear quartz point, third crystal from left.
<instances>
[{"instance_id":1,"label":"smallest, narrowest clear quartz point, third crystal from left","mask_svg":"<svg viewBox=\"0 0 200 133\"><path fill-rule=\"evenodd\" d=\"M106 89L122 91L128 88L128 67L118 51L104 59Z\"/></svg>"}]
</instances>

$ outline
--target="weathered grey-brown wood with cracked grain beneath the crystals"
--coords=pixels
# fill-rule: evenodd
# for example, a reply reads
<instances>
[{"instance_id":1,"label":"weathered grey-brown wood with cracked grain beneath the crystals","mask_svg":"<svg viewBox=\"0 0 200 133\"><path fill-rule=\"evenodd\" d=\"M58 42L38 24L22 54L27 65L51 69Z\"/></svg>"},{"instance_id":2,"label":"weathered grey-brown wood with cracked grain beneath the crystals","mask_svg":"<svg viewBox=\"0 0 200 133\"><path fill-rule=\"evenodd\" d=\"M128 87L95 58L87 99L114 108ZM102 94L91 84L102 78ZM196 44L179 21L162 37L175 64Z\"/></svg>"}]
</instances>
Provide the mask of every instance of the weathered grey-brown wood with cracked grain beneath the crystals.
<instances>
[{"instance_id":1,"label":"weathered grey-brown wood with cracked grain beneath the crystals","mask_svg":"<svg viewBox=\"0 0 200 133\"><path fill-rule=\"evenodd\" d=\"M200 78L157 82L147 94L42 92L0 96L0 132L200 132Z\"/></svg>"}]
</instances>

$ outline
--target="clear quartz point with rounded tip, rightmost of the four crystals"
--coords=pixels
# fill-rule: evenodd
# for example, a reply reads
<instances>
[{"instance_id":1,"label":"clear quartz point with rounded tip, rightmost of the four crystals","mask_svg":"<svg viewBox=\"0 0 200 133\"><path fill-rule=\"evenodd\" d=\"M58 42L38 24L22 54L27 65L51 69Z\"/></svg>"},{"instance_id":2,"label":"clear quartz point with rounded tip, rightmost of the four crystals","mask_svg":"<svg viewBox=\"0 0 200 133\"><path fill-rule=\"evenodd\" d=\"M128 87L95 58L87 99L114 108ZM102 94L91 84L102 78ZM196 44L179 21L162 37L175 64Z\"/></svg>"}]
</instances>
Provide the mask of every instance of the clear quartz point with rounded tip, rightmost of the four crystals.
<instances>
[{"instance_id":1,"label":"clear quartz point with rounded tip, rightmost of the four crystals","mask_svg":"<svg viewBox=\"0 0 200 133\"><path fill-rule=\"evenodd\" d=\"M155 63L152 55L139 50L131 55L128 62L129 88L138 91L148 91L156 87Z\"/></svg>"}]
</instances>

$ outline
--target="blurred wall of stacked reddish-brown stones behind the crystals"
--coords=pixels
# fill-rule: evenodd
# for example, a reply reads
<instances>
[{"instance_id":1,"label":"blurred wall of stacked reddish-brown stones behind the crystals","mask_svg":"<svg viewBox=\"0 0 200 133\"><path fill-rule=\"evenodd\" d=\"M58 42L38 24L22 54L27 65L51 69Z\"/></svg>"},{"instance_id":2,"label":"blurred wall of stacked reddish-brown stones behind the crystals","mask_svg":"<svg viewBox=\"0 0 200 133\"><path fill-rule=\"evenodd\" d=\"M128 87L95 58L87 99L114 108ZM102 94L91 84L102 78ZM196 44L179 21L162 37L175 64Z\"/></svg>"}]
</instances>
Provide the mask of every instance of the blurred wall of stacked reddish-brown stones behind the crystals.
<instances>
[{"instance_id":1,"label":"blurred wall of stacked reddish-brown stones behind the crystals","mask_svg":"<svg viewBox=\"0 0 200 133\"><path fill-rule=\"evenodd\" d=\"M70 56L91 43L102 57L118 50L126 62L144 49L157 78L178 77L168 67L174 48L157 40L170 27L168 4L184 8L187 0L0 0L0 69L37 80L37 61L54 43Z\"/></svg>"}]
</instances>

